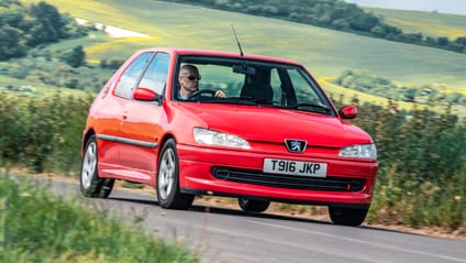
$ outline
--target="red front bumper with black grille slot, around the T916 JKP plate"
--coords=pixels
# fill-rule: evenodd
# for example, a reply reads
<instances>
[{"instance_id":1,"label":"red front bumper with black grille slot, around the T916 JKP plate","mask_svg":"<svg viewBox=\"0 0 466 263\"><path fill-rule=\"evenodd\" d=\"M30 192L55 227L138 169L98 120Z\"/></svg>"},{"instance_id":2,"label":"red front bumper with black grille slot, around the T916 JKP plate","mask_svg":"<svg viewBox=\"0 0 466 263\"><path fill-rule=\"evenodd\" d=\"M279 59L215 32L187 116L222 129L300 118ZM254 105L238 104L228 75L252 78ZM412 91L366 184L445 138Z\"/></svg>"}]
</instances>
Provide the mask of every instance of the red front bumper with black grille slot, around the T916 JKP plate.
<instances>
[{"instance_id":1,"label":"red front bumper with black grille slot, around the T916 JKP plate","mask_svg":"<svg viewBox=\"0 0 466 263\"><path fill-rule=\"evenodd\" d=\"M247 196L288 202L368 207L377 162L311 158L178 144L185 193ZM325 178L262 172L264 158L328 163Z\"/></svg>"}]
</instances>

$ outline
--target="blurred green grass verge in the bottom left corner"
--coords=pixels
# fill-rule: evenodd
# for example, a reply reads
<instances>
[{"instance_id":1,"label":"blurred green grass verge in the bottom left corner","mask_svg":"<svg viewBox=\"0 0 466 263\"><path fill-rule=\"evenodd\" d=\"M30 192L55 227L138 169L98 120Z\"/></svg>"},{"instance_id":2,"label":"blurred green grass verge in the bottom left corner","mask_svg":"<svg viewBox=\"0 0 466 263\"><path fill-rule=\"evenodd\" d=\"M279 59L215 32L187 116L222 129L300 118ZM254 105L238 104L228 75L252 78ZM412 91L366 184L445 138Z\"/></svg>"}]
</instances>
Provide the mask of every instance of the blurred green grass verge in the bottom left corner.
<instances>
[{"instance_id":1,"label":"blurred green grass verge in the bottom left corner","mask_svg":"<svg viewBox=\"0 0 466 263\"><path fill-rule=\"evenodd\" d=\"M0 174L0 262L199 262L187 244Z\"/></svg>"}]
</instances>

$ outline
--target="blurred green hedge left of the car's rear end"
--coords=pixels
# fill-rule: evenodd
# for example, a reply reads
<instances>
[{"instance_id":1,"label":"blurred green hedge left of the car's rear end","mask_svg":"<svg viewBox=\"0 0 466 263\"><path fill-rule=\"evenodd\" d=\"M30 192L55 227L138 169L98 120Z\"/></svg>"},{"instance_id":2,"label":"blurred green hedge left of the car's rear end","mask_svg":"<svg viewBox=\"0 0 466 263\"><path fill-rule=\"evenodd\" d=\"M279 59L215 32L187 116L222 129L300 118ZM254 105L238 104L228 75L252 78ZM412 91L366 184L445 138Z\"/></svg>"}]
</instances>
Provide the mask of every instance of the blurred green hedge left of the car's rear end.
<instances>
[{"instance_id":1,"label":"blurred green hedge left of the car's rear end","mask_svg":"<svg viewBox=\"0 0 466 263\"><path fill-rule=\"evenodd\" d=\"M2 163L25 164L34 173L75 174L84 125L93 96L20 97L0 91Z\"/></svg>"}]
</instances>

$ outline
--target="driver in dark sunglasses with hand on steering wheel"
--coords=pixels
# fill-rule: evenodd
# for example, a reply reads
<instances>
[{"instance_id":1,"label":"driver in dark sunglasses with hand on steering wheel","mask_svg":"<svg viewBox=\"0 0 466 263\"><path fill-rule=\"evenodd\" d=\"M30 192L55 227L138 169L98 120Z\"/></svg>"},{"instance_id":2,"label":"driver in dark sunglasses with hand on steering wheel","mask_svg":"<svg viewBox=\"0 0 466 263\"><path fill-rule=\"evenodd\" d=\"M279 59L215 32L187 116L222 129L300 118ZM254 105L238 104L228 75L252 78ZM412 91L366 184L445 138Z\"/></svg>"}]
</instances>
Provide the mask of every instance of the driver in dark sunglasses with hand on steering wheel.
<instances>
[{"instance_id":1,"label":"driver in dark sunglasses with hand on steering wheel","mask_svg":"<svg viewBox=\"0 0 466 263\"><path fill-rule=\"evenodd\" d=\"M189 99L189 96L199 90L198 85L201 79L199 70L195 65L184 65L179 70L179 99ZM225 94L222 90L217 90L214 97L224 98Z\"/></svg>"}]
</instances>

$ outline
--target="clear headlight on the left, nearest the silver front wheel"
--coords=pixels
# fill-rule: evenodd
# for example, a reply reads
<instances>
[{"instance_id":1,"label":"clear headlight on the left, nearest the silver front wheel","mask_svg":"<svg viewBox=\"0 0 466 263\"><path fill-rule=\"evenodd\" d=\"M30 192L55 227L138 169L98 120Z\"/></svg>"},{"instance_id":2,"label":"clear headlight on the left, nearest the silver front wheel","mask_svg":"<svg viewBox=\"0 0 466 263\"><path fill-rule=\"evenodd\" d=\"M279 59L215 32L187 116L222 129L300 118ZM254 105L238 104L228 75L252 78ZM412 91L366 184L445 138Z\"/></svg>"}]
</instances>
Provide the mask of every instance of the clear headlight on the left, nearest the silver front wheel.
<instances>
[{"instance_id":1,"label":"clear headlight on the left, nearest the silver front wheel","mask_svg":"<svg viewBox=\"0 0 466 263\"><path fill-rule=\"evenodd\" d=\"M193 134L195 141L200 144L251 149L246 140L236 135L215 132L202 128L195 128Z\"/></svg>"}]
</instances>

